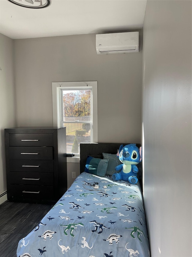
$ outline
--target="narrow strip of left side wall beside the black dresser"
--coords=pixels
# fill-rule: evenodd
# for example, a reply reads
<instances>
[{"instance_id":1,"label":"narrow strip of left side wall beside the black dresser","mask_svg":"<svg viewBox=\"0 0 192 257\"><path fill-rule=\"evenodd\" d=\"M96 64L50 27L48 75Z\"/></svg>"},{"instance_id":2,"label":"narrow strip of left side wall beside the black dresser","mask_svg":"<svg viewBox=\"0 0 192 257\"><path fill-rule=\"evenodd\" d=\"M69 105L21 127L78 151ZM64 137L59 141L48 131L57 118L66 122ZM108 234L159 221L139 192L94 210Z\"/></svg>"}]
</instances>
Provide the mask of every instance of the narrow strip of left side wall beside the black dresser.
<instances>
[{"instance_id":1,"label":"narrow strip of left side wall beside the black dresser","mask_svg":"<svg viewBox=\"0 0 192 257\"><path fill-rule=\"evenodd\" d=\"M7 190L4 128L15 126L13 40L0 34L0 195ZM0 204L6 196L0 197Z\"/></svg>"}]
</instances>

